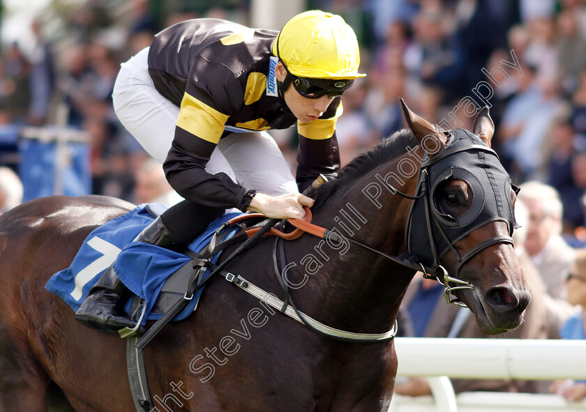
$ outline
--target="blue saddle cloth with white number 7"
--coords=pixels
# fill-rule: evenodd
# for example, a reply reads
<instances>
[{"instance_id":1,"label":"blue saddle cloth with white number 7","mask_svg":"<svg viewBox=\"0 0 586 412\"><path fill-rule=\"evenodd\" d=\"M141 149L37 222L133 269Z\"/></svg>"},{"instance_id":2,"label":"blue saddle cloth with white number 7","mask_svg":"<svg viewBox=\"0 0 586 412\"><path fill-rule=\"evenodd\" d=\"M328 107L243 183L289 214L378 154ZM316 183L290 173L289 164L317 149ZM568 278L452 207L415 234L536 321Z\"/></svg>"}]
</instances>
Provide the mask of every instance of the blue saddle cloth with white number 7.
<instances>
[{"instance_id":1,"label":"blue saddle cloth with white number 7","mask_svg":"<svg viewBox=\"0 0 586 412\"><path fill-rule=\"evenodd\" d=\"M145 300L146 312L143 323L147 319L159 319L163 314L151 313L157 296L170 275L190 261L185 254L173 252L148 243L133 242L138 234L149 225L154 218L145 209L146 204L137 206L133 211L114 218L98 227L89 234L71 265L55 273L45 288L61 297L74 311L80 307L91 287L112 262L114 270L123 284L135 295ZM200 252L209 242L213 232L224 222L242 213L226 213L218 220L211 222L204 233L189 245L193 252ZM238 228L227 229L230 233L225 238L234 236ZM210 260L214 263L220 253ZM211 271L208 270L206 275ZM204 275L205 276L205 275ZM197 306L203 288L198 290L187 307L174 317L175 321L186 318ZM131 301L126 304L130 313Z\"/></svg>"}]
</instances>

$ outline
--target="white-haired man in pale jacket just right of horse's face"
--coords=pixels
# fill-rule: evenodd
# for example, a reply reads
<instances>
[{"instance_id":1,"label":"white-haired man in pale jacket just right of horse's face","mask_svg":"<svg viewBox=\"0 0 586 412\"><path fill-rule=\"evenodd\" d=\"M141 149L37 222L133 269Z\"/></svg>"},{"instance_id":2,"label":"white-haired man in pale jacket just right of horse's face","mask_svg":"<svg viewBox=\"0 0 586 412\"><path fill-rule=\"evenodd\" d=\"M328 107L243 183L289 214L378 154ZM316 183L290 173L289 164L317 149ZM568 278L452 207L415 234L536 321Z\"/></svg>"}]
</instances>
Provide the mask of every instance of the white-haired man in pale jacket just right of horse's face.
<instances>
[{"instance_id":1,"label":"white-haired man in pale jacket just right of horse's face","mask_svg":"<svg viewBox=\"0 0 586 412\"><path fill-rule=\"evenodd\" d=\"M518 201L529 211L525 250L537 268L546 289L548 337L557 338L559 325L571 312L566 300L564 279L574 260L575 250L562 238L563 206L557 190L538 181L520 185Z\"/></svg>"}]
</instances>

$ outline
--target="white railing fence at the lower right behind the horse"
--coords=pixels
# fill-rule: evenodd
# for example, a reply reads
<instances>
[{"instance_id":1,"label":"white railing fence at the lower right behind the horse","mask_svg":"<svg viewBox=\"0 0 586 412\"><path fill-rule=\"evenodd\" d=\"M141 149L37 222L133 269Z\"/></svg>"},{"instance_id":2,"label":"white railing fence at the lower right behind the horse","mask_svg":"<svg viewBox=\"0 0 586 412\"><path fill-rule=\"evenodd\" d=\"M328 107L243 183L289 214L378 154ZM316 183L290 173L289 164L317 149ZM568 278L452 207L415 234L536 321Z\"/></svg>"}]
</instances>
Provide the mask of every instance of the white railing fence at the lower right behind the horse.
<instances>
[{"instance_id":1,"label":"white railing fence at the lower right behind the horse","mask_svg":"<svg viewBox=\"0 0 586 412\"><path fill-rule=\"evenodd\" d=\"M395 339L398 376L426 376L433 397L393 396L389 412L586 411L559 395L465 392L452 378L586 380L586 341L554 339Z\"/></svg>"}]
</instances>

